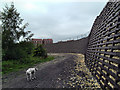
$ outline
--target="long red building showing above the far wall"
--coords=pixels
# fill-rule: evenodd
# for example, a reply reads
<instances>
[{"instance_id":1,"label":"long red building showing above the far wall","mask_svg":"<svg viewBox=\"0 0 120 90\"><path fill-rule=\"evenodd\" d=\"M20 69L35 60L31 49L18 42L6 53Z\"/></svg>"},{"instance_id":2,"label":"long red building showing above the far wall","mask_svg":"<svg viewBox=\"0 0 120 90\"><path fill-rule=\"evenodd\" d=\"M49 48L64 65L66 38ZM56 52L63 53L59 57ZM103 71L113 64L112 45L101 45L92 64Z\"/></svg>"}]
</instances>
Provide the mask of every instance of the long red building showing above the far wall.
<instances>
[{"instance_id":1,"label":"long red building showing above the far wall","mask_svg":"<svg viewBox=\"0 0 120 90\"><path fill-rule=\"evenodd\" d=\"M52 39L32 39L32 42L34 45L39 45L39 44L51 44L53 43Z\"/></svg>"}]
</instances>

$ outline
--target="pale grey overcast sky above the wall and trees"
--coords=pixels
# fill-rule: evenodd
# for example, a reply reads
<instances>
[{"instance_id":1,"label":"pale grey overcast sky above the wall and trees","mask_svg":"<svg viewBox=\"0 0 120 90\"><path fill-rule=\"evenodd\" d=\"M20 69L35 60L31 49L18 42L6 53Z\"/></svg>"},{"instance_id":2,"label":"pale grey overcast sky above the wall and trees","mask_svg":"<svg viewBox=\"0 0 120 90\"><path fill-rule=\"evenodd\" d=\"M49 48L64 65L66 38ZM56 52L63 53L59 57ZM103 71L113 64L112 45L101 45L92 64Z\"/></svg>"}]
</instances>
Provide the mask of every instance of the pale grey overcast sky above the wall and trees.
<instances>
[{"instance_id":1,"label":"pale grey overcast sky above the wall and trees","mask_svg":"<svg viewBox=\"0 0 120 90\"><path fill-rule=\"evenodd\" d=\"M0 11L9 0L0 1ZM91 30L93 22L107 3L88 1L51 0L11 0L20 13L24 23L28 22L26 30L34 33L33 38L52 38L54 42L76 39L80 34Z\"/></svg>"}]
</instances>

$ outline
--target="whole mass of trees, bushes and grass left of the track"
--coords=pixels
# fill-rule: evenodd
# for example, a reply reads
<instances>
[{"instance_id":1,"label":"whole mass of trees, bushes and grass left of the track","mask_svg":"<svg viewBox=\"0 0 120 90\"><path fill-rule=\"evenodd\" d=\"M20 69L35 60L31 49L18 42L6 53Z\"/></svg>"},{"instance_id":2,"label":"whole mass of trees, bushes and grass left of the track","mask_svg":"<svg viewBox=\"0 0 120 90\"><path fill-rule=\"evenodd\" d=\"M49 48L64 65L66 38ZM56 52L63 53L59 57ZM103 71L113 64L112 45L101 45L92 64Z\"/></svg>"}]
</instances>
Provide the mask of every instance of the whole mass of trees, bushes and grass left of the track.
<instances>
[{"instance_id":1,"label":"whole mass of trees, bushes and grass left of the track","mask_svg":"<svg viewBox=\"0 0 120 90\"><path fill-rule=\"evenodd\" d=\"M33 34L25 30L29 24L23 25L24 19L21 19L13 3L3 8L0 19L2 21L2 74L54 59L47 56L42 45L34 46L31 42Z\"/></svg>"}]
</instances>

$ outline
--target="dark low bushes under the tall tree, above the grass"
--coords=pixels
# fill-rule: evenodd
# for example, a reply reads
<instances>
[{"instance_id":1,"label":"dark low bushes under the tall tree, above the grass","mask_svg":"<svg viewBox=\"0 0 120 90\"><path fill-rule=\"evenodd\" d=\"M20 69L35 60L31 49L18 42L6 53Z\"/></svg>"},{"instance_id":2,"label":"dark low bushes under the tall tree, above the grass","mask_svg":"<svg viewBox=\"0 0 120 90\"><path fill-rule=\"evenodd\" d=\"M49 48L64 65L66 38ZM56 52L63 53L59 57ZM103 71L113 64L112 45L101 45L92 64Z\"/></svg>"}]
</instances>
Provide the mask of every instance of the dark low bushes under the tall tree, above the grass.
<instances>
[{"instance_id":1,"label":"dark low bushes under the tall tree, above the grass","mask_svg":"<svg viewBox=\"0 0 120 90\"><path fill-rule=\"evenodd\" d=\"M6 51L3 49L2 59L4 60L20 60L21 62L25 61L25 58L28 58L30 54L33 53L33 44L31 42L20 42L14 44L11 48ZM24 58L24 59L23 59Z\"/></svg>"}]
</instances>

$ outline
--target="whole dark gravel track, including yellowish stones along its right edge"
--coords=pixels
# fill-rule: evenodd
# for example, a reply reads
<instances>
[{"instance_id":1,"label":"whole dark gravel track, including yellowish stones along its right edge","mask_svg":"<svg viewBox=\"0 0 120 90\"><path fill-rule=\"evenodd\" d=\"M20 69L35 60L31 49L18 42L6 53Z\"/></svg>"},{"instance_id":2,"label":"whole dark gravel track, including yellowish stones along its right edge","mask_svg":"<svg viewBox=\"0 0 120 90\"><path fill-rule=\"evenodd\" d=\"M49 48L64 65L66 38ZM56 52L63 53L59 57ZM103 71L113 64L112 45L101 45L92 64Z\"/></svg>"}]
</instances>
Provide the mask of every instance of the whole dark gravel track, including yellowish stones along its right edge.
<instances>
[{"instance_id":1,"label":"whole dark gravel track, including yellowish stones along its right edge","mask_svg":"<svg viewBox=\"0 0 120 90\"><path fill-rule=\"evenodd\" d=\"M3 88L100 88L82 54L50 54L53 61L36 65L36 79L27 81L25 70L3 76Z\"/></svg>"}]
</instances>

